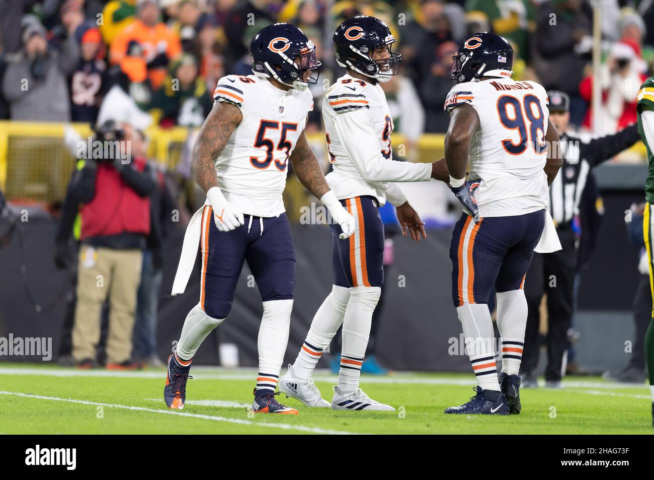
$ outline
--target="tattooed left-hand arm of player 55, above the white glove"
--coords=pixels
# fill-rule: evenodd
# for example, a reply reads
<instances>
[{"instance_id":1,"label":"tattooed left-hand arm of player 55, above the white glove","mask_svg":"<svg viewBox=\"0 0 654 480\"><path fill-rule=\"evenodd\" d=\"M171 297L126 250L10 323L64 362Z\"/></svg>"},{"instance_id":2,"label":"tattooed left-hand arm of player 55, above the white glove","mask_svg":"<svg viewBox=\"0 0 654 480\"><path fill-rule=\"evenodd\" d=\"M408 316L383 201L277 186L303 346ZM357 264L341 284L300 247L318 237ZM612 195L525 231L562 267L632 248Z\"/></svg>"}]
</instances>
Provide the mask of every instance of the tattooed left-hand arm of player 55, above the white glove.
<instances>
[{"instance_id":1,"label":"tattooed left-hand arm of player 55, above the white glove","mask_svg":"<svg viewBox=\"0 0 654 480\"><path fill-rule=\"evenodd\" d=\"M202 124L192 151L193 177L204 193L218 186L218 175L213 160L220 155L234 128L243 120L236 105L216 102Z\"/></svg>"}]
</instances>

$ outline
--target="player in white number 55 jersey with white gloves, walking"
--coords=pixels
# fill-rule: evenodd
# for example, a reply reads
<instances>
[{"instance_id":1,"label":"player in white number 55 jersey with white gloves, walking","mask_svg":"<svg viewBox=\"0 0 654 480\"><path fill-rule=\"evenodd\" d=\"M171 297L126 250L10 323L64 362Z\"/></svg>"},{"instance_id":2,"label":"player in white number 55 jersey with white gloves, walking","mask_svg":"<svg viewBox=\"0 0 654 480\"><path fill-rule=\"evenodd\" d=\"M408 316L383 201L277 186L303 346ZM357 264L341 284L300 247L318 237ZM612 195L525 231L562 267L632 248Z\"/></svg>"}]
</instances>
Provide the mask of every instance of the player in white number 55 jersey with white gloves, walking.
<instances>
[{"instance_id":1,"label":"player in white number 55 jersey with white gloves, walking","mask_svg":"<svg viewBox=\"0 0 654 480\"><path fill-rule=\"evenodd\" d=\"M218 81L215 105L193 149L194 177L207 201L186 230L173 295L186 287L198 244L201 286L199 303L186 316L168 359L163 396L171 409L184 408L193 357L230 312L247 261L264 307L252 410L298 413L275 400L295 284L295 255L282 200L289 161L301 183L326 205L342 237L354 231L354 218L330 191L304 134L313 109L307 84L317 81L320 66L313 43L299 28L275 24L257 33L250 54L254 75Z\"/></svg>"}]
</instances>

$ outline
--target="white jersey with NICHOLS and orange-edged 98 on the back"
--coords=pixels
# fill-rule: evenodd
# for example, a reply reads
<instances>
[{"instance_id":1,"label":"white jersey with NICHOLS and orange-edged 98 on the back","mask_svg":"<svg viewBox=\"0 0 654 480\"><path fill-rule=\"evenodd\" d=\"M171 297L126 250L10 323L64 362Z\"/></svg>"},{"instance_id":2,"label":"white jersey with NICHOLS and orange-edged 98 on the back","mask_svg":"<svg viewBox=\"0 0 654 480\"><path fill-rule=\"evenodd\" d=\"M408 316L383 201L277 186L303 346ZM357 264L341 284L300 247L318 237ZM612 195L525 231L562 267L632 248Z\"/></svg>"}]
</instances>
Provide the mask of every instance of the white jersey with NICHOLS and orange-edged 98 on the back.
<instances>
[{"instance_id":1,"label":"white jersey with NICHOLS and orange-edged 98 on the back","mask_svg":"<svg viewBox=\"0 0 654 480\"><path fill-rule=\"evenodd\" d=\"M540 84L498 78L454 86L445 112L468 103L480 126L470 145L470 179L481 217L510 217L547 208L547 93Z\"/></svg>"}]
</instances>

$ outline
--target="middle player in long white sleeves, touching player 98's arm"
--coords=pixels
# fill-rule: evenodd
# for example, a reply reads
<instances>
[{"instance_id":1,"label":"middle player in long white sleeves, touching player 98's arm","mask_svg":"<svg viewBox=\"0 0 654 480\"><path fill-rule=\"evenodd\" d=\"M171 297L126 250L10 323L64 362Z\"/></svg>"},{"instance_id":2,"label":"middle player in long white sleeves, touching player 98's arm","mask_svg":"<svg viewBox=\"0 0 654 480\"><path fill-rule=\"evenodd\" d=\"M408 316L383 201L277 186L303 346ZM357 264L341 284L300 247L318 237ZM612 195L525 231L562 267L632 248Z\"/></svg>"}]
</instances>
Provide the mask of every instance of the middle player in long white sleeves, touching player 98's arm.
<instances>
[{"instance_id":1,"label":"middle player in long white sleeves, touching player 98's arm","mask_svg":"<svg viewBox=\"0 0 654 480\"><path fill-rule=\"evenodd\" d=\"M332 292L315 314L298 358L279 383L281 392L311 407L394 410L359 388L372 314L384 280L379 206L387 201L396 206L405 236L408 231L413 240L426 238L424 224L395 182L449 179L444 160L412 164L392 158L393 119L379 82L398 73L400 54L391 51L394 42L388 26L370 16L345 20L334 33L336 59L347 74L324 95L322 118L334 167L327 181L354 216L356 229L343 239L341 227L332 224ZM341 323L341 368L329 403L320 396L311 373Z\"/></svg>"}]
</instances>

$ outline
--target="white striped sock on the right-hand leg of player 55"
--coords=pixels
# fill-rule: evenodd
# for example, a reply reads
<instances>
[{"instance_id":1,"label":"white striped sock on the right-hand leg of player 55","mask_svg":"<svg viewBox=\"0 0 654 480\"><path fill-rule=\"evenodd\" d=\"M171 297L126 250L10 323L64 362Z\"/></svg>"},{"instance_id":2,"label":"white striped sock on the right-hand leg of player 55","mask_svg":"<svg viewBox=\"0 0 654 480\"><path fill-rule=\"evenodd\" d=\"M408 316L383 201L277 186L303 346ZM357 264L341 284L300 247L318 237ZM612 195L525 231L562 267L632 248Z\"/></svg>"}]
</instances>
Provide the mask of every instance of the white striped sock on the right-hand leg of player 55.
<instances>
[{"instance_id":1,"label":"white striped sock on the right-hand leg of player 55","mask_svg":"<svg viewBox=\"0 0 654 480\"><path fill-rule=\"evenodd\" d=\"M288 344L290 312L293 301L271 300L264 302L264 315L261 318L257 346L259 349L259 375L256 378L256 391L269 390L275 393L279 371L281 370Z\"/></svg>"}]
</instances>

